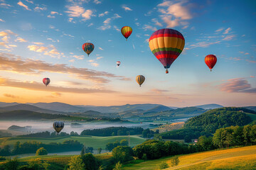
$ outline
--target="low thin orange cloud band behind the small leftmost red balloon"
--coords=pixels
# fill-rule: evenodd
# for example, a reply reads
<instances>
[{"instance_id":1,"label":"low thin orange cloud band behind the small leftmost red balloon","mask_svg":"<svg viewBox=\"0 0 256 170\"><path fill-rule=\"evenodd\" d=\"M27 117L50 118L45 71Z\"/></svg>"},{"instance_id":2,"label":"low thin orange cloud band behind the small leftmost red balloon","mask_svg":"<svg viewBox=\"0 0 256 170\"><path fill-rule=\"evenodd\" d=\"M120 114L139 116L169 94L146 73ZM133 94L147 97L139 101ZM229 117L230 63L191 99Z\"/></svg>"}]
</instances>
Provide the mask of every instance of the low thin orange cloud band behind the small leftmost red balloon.
<instances>
[{"instance_id":1,"label":"low thin orange cloud band behind the small leftmost red balloon","mask_svg":"<svg viewBox=\"0 0 256 170\"><path fill-rule=\"evenodd\" d=\"M41 82L36 81L14 81L12 79L4 79L0 77L0 86L15 87L21 89L28 89L33 91L48 91L54 94L59 93L72 93L72 94L94 94L94 93L113 93L115 91L100 88L100 89L90 89L90 88L68 88L63 86L44 86Z\"/></svg>"}]
</instances>

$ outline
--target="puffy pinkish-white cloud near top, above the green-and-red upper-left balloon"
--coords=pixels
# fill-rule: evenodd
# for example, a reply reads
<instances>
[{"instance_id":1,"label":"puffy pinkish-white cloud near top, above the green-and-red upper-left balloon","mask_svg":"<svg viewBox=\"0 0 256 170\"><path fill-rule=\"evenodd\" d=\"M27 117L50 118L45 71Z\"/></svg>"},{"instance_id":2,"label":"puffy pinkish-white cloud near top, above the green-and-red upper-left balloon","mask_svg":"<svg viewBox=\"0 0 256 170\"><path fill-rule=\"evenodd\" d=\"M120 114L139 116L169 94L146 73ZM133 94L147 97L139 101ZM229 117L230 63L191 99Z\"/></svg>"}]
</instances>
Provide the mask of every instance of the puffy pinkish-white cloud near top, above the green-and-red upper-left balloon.
<instances>
[{"instance_id":1,"label":"puffy pinkish-white cloud near top, above the green-and-red upper-left balloon","mask_svg":"<svg viewBox=\"0 0 256 170\"><path fill-rule=\"evenodd\" d=\"M68 6L68 11L65 11L65 13L68 13L70 17L82 17L82 20L88 20L92 16L90 9L85 10L81 6Z\"/></svg>"}]
</instances>

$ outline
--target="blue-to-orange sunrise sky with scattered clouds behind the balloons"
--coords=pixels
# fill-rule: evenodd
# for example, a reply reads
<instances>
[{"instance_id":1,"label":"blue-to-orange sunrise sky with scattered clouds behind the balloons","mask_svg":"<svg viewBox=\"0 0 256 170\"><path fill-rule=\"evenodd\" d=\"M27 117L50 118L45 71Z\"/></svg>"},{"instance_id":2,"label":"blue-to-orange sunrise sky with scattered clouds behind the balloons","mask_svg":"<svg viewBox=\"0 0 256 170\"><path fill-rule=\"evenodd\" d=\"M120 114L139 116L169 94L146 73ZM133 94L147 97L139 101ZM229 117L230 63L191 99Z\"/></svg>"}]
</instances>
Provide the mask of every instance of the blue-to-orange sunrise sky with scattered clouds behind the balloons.
<instances>
[{"instance_id":1,"label":"blue-to-orange sunrise sky with scattered clouds behind the balloons","mask_svg":"<svg viewBox=\"0 0 256 170\"><path fill-rule=\"evenodd\" d=\"M0 13L1 102L256 105L256 1L0 0ZM169 74L149 49L161 28L185 38Z\"/></svg>"}]
</instances>

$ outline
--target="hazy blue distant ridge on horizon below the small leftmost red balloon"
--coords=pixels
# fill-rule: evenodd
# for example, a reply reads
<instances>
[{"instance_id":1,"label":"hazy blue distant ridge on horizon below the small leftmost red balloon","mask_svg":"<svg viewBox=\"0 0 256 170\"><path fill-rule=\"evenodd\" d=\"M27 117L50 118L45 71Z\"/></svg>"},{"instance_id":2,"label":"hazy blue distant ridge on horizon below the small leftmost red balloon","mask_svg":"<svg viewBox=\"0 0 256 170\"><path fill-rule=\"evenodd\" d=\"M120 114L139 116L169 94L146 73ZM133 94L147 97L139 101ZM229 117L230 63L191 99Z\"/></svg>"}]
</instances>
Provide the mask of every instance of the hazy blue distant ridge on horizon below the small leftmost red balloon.
<instances>
[{"instance_id":1,"label":"hazy blue distant ridge on horizon below the small leftmost red balloon","mask_svg":"<svg viewBox=\"0 0 256 170\"><path fill-rule=\"evenodd\" d=\"M82 112L85 111L85 108L73 106L66 103L29 103L30 105L36 106L38 108L48 109L50 111L58 111L58 112Z\"/></svg>"}]
</instances>

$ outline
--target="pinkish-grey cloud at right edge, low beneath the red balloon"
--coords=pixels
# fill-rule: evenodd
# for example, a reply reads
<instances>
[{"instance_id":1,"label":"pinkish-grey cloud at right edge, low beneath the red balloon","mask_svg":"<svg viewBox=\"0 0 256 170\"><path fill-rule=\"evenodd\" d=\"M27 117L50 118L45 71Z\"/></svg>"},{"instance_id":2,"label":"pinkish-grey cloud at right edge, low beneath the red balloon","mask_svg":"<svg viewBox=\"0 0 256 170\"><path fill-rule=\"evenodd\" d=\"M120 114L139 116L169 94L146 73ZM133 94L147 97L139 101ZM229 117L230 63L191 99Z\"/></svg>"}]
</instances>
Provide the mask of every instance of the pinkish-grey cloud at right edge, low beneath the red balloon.
<instances>
[{"instance_id":1,"label":"pinkish-grey cloud at right edge, low beneath the red balloon","mask_svg":"<svg viewBox=\"0 0 256 170\"><path fill-rule=\"evenodd\" d=\"M219 87L221 91L228 93L256 94L256 88L252 88L245 78L229 79L228 82L220 84Z\"/></svg>"}]
</instances>

